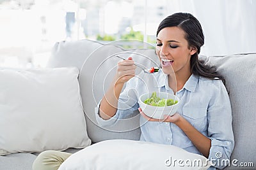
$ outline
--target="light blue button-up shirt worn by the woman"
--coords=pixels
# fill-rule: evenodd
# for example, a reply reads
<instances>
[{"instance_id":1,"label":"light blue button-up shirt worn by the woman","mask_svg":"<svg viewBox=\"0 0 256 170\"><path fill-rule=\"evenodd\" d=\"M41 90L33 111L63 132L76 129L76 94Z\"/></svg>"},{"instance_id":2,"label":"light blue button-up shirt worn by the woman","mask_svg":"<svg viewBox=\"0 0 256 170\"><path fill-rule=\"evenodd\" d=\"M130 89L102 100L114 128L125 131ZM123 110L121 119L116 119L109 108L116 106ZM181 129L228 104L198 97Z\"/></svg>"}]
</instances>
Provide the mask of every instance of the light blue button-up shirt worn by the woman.
<instances>
[{"instance_id":1,"label":"light blue button-up shirt worn by the woman","mask_svg":"<svg viewBox=\"0 0 256 170\"><path fill-rule=\"evenodd\" d=\"M118 100L118 110L114 117L103 120L99 117L99 105L95 108L97 122L101 126L113 125L118 119L138 110L138 97L146 92L169 92L167 75L161 70L154 74L140 73L126 83ZM191 75L184 87L176 93L180 99L177 110L198 131L211 139L208 159L215 167L222 169L226 165L223 159L230 159L234 148L232 131L232 111L227 90L221 80ZM191 140L177 125L168 122L147 122L140 117L141 141L150 141L164 145L175 145L188 152L202 155ZM215 169L211 167L210 169Z\"/></svg>"}]
</instances>

